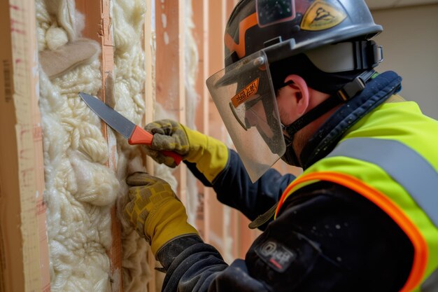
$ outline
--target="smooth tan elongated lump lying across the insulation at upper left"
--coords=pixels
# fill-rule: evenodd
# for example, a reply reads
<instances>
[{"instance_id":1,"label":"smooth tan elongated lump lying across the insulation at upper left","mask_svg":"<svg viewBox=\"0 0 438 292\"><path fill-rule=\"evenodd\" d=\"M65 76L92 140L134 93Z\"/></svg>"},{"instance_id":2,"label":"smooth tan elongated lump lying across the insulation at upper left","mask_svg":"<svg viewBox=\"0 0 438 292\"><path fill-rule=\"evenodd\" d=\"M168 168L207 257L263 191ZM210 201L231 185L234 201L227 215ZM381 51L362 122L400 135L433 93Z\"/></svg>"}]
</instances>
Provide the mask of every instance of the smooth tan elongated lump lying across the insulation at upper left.
<instances>
[{"instance_id":1,"label":"smooth tan elongated lump lying across the insulation at upper left","mask_svg":"<svg viewBox=\"0 0 438 292\"><path fill-rule=\"evenodd\" d=\"M87 64L98 53L99 43L90 39L78 39L56 50L43 50L38 57L45 74L49 78L56 78L80 64Z\"/></svg>"}]
</instances>

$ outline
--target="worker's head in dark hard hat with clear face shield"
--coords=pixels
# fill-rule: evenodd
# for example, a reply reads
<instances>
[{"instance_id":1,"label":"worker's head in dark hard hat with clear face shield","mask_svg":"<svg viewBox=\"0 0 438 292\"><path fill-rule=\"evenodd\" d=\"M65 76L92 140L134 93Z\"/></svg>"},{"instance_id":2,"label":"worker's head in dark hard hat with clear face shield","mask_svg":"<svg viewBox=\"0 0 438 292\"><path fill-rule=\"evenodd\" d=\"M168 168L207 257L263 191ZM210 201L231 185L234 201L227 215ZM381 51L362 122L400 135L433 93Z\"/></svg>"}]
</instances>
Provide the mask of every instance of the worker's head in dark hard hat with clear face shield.
<instances>
[{"instance_id":1,"label":"worker's head in dark hard hat with clear face shield","mask_svg":"<svg viewBox=\"0 0 438 292\"><path fill-rule=\"evenodd\" d=\"M369 38L381 31L363 0L239 1L225 30L225 69L207 85L247 169L246 160L261 169L278 157L299 165L295 132L334 107L309 115L324 99L358 92L345 86L380 62ZM257 137L269 158L248 154Z\"/></svg>"}]
</instances>

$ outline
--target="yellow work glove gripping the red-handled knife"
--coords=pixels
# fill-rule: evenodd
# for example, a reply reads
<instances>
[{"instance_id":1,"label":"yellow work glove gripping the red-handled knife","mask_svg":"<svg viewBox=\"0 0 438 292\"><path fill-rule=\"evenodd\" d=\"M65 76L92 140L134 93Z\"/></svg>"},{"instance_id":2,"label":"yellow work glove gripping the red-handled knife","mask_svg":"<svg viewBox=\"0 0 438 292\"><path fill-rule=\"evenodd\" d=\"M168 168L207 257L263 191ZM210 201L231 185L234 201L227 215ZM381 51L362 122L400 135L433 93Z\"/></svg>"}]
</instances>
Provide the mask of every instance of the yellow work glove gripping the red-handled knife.
<instances>
[{"instance_id":1,"label":"yellow work glove gripping the red-handled knife","mask_svg":"<svg viewBox=\"0 0 438 292\"><path fill-rule=\"evenodd\" d=\"M191 130L174 120L157 120L146 125L145 130L154 135L152 145L146 146L146 153L158 163L175 167L173 158L159 151L174 151L183 160L196 164L206 179L213 179L228 162L228 148L221 141Z\"/></svg>"}]
</instances>

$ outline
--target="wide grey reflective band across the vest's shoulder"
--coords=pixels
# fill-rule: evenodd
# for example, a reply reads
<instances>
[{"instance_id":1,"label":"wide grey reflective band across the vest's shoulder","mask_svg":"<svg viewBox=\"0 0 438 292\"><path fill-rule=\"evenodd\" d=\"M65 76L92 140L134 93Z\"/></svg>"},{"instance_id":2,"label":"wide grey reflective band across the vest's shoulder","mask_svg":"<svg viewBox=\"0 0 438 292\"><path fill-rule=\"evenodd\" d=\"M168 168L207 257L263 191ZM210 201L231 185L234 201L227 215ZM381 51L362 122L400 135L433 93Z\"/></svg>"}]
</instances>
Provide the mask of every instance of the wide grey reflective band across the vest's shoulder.
<instances>
[{"instance_id":1,"label":"wide grey reflective band across the vest's shoulder","mask_svg":"<svg viewBox=\"0 0 438 292\"><path fill-rule=\"evenodd\" d=\"M379 165L407 190L438 227L438 173L416 151L395 140L351 138L342 141L327 155L332 156L346 156Z\"/></svg>"}]
</instances>

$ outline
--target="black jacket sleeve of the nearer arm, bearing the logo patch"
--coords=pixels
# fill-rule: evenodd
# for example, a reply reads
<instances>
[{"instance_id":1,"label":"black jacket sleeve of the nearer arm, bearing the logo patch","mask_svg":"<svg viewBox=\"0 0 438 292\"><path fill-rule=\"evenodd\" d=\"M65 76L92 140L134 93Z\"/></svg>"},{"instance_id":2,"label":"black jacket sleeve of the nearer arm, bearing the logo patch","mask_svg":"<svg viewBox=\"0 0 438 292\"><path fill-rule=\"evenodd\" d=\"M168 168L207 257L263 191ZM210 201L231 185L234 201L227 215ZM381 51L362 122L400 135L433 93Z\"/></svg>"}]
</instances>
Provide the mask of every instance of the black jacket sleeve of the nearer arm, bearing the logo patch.
<instances>
[{"instance_id":1,"label":"black jacket sleeve of the nearer arm, bearing the logo patch","mask_svg":"<svg viewBox=\"0 0 438 292\"><path fill-rule=\"evenodd\" d=\"M163 291L400 291L414 250L400 227L358 193L327 182L288 198L231 265L195 236L164 246Z\"/></svg>"}]
</instances>

